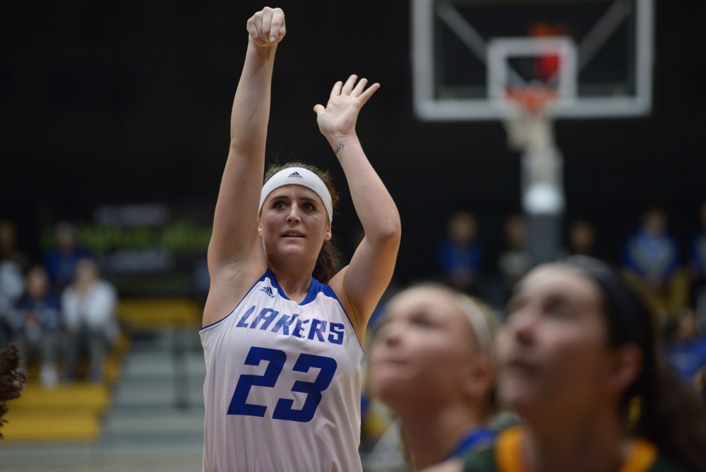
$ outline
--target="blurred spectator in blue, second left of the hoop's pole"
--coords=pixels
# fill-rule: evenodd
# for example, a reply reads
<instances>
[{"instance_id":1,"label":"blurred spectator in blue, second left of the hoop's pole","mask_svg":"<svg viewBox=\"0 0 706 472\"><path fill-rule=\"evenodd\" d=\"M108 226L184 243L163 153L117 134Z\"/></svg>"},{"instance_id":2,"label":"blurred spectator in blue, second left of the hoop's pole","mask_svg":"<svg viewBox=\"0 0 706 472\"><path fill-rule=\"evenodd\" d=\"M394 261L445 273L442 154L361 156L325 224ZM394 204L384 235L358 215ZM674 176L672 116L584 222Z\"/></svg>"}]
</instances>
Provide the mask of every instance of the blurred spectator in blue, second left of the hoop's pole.
<instances>
[{"instance_id":1,"label":"blurred spectator in blue, second left of the hoop's pole","mask_svg":"<svg viewBox=\"0 0 706 472\"><path fill-rule=\"evenodd\" d=\"M478 223L466 211L448 219L446 234L438 248L442 278L456 290L476 294L481 263L481 247L477 240Z\"/></svg>"}]
</instances>

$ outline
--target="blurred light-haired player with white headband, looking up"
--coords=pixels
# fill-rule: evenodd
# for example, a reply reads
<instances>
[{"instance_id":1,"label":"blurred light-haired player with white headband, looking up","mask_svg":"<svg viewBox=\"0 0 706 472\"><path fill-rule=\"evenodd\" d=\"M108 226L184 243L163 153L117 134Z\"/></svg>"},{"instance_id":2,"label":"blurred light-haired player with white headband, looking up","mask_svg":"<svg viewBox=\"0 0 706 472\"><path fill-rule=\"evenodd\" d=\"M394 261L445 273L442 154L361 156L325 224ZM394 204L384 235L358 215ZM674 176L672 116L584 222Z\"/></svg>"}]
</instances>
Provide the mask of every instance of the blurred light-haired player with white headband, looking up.
<instances>
[{"instance_id":1,"label":"blurred light-haired player with white headband, looking up","mask_svg":"<svg viewBox=\"0 0 706 472\"><path fill-rule=\"evenodd\" d=\"M409 288L385 307L370 345L369 387L399 418L414 470L493 441L489 321L443 285Z\"/></svg>"}]
</instances>

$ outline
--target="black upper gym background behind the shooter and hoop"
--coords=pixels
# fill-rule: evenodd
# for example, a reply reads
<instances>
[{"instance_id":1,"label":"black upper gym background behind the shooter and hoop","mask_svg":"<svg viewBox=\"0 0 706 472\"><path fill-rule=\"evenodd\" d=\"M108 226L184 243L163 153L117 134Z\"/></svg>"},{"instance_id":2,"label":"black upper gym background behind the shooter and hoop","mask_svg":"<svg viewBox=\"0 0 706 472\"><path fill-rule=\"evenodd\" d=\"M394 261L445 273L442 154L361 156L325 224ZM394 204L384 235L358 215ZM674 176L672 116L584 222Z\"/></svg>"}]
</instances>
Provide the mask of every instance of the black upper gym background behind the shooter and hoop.
<instances>
[{"instance_id":1,"label":"black upper gym background behind the shooter and hoop","mask_svg":"<svg viewBox=\"0 0 706 472\"><path fill-rule=\"evenodd\" d=\"M567 214L597 225L616 259L648 203L686 247L706 199L706 2L656 0L654 102L638 119L561 121ZM259 1L1 1L0 218L20 247L97 205L165 202L210 219L228 149L232 95ZM420 122L412 113L408 1L285 0L269 155L334 171L345 196L335 235L356 227L311 108L350 73L382 87L361 112L366 153L400 208L397 278L431 273L445 218L480 223L486 265L520 211L520 165L498 122Z\"/></svg>"}]
</instances>

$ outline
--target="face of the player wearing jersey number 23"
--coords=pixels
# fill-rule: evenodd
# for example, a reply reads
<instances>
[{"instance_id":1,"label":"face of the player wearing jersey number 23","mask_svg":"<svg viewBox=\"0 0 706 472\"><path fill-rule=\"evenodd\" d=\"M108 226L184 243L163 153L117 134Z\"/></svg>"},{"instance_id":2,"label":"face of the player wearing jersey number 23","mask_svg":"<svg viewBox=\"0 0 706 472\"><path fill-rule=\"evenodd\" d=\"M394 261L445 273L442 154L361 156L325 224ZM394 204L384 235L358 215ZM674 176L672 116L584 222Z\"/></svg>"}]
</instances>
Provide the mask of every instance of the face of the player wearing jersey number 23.
<instances>
[{"instance_id":1,"label":"face of the player wearing jersey number 23","mask_svg":"<svg viewBox=\"0 0 706 472\"><path fill-rule=\"evenodd\" d=\"M285 185L268 195L258 230L268 259L297 256L316 261L321 245L331 238L321 197L301 185Z\"/></svg>"}]
</instances>

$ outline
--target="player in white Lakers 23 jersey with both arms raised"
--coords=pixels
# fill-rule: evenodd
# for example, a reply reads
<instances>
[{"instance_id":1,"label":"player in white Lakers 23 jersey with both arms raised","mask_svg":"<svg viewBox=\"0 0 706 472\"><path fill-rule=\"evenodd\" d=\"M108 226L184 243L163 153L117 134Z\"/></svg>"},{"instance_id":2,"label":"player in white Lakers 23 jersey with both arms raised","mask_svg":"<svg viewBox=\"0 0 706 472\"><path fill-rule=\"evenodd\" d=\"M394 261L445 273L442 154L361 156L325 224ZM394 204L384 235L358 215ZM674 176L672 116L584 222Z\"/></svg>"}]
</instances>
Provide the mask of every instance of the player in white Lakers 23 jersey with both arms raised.
<instances>
[{"instance_id":1,"label":"player in white Lakers 23 jersey with both arms raised","mask_svg":"<svg viewBox=\"0 0 706 472\"><path fill-rule=\"evenodd\" d=\"M284 13L264 8L247 30L208 247L203 469L359 471L361 343L400 244L395 203L355 132L379 85L351 76L314 107L365 231L334 275L326 247L335 194L325 176L291 165L262 185Z\"/></svg>"}]
</instances>

